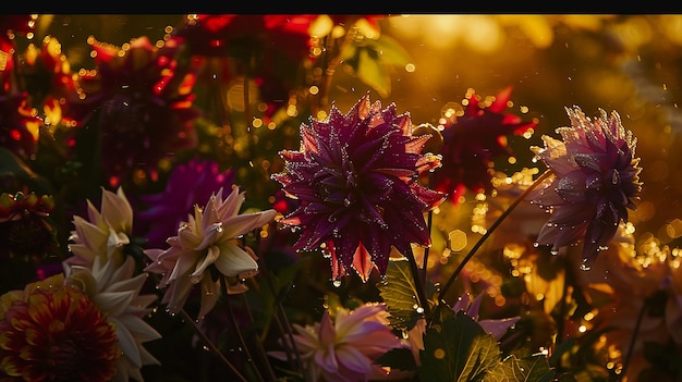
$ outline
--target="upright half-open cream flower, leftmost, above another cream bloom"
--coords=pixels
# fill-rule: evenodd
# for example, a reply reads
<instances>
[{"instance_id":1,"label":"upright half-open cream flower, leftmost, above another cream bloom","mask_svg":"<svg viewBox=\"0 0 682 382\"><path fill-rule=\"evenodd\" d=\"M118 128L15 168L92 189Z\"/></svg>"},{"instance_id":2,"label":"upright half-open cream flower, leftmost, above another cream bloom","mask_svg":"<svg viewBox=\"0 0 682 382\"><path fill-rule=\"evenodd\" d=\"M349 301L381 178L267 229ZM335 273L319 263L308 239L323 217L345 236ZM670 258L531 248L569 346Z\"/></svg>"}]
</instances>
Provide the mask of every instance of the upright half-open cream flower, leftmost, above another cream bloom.
<instances>
[{"instance_id":1,"label":"upright half-open cream flower, leftmost, above another cream bloom","mask_svg":"<svg viewBox=\"0 0 682 382\"><path fill-rule=\"evenodd\" d=\"M65 266L83 266L89 268L96 257L103 257L105 262L130 243L129 236L133 231L133 209L119 187L112 193L102 187L101 208L98 211L93 202L87 200L88 219L74 215L75 230L71 231L69 250L72 257Z\"/></svg>"}]
</instances>

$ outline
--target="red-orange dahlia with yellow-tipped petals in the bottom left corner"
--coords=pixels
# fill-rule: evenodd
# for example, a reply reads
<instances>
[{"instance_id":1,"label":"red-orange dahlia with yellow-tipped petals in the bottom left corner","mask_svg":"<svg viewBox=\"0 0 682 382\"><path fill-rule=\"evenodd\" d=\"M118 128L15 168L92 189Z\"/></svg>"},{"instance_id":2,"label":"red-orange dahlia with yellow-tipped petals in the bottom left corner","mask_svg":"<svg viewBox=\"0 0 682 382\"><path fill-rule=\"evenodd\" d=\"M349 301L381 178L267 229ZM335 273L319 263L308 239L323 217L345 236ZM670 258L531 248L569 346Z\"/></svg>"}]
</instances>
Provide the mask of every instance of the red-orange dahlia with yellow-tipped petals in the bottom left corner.
<instances>
[{"instance_id":1,"label":"red-orange dahlia with yellow-tipped petals in the bottom left corner","mask_svg":"<svg viewBox=\"0 0 682 382\"><path fill-rule=\"evenodd\" d=\"M106 382L119 356L114 325L62 274L0 297L0 380Z\"/></svg>"}]
</instances>

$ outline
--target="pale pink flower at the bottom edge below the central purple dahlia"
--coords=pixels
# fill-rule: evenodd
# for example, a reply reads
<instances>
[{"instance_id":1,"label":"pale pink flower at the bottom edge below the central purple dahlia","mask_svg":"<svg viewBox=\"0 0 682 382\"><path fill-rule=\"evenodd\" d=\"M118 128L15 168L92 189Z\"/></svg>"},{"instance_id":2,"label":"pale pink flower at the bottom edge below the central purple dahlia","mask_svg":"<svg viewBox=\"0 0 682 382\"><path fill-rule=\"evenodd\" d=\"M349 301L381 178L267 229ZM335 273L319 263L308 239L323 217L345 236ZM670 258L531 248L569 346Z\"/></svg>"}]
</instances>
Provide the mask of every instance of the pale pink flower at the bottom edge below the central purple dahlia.
<instances>
[{"instance_id":1,"label":"pale pink flower at the bottom edge below the central purple dahlia","mask_svg":"<svg viewBox=\"0 0 682 382\"><path fill-rule=\"evenodd\" d=\"M308 381L358 382L381 369L374 361L386 352L402 347L388 326L386 304L366 304L350 311L339 309L336 317L326 310L321 322L305 328L293 324L296 348L308 372ZM270 356L287 360L283 352ZM378 370L380 372L380 370Z\"/></svg>"}]
</instances>

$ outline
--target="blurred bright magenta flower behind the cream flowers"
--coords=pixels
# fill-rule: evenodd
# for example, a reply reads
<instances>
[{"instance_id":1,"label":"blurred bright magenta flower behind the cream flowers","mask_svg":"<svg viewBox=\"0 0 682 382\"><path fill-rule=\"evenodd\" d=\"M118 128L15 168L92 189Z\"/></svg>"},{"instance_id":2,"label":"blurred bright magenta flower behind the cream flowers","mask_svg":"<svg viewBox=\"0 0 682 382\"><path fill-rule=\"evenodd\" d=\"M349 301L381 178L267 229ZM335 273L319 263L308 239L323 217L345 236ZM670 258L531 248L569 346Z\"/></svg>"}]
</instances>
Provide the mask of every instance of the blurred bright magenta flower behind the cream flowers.
<instances>
[{"instance_id":1,"label":"blurred bright magenta flower behind the cream flowers","mask_svg":"<svg viewBox=\"0 0 682 382\"><path fill-rule=\"evenodd\" d=\"M231 170L220 171L210 160L194 159L173 168L162 193L141 197L149 206L136 214L148 225L147 246L165 246L166 239L178 233L180 222L194 211L194 205L206 202L216 189L230 189L234 175Z\"/></svg>"}]
</instances>

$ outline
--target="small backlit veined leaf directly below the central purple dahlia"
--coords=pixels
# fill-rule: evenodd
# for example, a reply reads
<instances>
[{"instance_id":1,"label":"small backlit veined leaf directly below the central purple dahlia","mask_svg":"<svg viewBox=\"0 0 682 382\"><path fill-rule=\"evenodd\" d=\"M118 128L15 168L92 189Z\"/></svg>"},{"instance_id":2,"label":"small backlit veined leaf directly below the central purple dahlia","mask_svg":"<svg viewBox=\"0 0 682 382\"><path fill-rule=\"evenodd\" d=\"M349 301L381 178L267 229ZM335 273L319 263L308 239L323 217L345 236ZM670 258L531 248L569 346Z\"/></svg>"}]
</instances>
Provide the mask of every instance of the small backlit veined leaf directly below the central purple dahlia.
<instances>
[{"instance_id":1,"label":"small backlit veined leaf directly below the central purple dahlia","mask_svg":"<svg viewBox=\"0 0 682 382\"><path fill-rule=\"evenodd\" d=\"M390 260L386 281L379 283L378 288L390 313L390 324L403 331L411 330L422 315L415 310L417 289L407 260Z\"/></svg>"}]
</instances>

